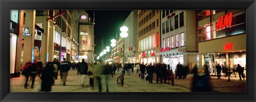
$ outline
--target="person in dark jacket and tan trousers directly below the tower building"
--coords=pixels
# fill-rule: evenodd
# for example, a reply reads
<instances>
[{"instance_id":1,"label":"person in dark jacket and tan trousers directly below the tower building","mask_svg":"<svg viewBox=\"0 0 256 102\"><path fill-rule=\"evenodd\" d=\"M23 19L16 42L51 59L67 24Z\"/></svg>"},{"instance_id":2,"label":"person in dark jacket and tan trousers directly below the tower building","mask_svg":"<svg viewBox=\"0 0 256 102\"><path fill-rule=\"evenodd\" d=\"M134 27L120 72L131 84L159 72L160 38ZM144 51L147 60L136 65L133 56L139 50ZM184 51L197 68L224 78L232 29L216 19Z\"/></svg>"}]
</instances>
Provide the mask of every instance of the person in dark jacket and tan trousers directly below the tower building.
<instances>
[{"instance_id":1,"label":"person in dark jacket and tan trousers directly below the tower building","mask_svg":"<svg viewBox=\"0 0 256 102\"><path fill-rule=\"evenodd\" d=\"M79 72L81 75L81 86L84 87L84 83L85 83L85 77L87 75L88 72L88 63L84 61L84 59L82 59L82 62L79 65Z\"/></svg>"}]
</instances>

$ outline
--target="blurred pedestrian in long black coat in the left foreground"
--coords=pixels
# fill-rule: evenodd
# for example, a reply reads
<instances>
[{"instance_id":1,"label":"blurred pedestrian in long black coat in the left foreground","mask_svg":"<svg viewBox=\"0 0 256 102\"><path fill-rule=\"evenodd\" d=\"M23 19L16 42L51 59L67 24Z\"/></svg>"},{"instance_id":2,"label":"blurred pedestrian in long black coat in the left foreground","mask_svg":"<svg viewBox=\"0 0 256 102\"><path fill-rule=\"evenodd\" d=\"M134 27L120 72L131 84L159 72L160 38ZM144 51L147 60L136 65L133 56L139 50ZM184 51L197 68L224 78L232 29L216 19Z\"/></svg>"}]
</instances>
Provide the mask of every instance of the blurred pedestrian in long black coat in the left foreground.
<instances>
[{"instance_id":1,"label":"blurred pedestrian in long black coat in the left foreground","mask_svg":"<svg viewBox=\"0 0 256 102\"><path fill-rule=\"evenodd\" d=\"M41 77L41 80L42 80L41 91L50 92L52 90L52 82L54 80L53 70L55 70L53 65L54 63L47 62L46 67L44 67L44 70L42 72L42 77Z\"/></svg>"}]
</instances>

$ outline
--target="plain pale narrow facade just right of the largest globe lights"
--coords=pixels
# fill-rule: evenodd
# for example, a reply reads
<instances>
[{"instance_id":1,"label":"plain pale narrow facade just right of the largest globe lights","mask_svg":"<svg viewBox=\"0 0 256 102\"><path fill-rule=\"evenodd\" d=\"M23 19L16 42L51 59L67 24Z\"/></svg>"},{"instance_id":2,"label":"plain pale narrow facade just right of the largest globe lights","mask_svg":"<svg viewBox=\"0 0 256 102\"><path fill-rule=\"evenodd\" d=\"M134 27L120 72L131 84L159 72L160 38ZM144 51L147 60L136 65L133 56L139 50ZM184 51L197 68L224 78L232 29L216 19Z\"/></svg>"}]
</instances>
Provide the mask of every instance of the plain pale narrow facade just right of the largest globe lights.
<instances>
[{"instance_id":1,"label":"plain pale narrow facade just right of the largest globe lights","mask_svg":"<svg viewBox=\"0 0 256 102\"><path fill-rule=\"evenodd\" d=\"M136 12L133 10L126 18L124 25L128 27L127 38L124 39L125 63L136 62Z\"/></svg>"}]
</instances>

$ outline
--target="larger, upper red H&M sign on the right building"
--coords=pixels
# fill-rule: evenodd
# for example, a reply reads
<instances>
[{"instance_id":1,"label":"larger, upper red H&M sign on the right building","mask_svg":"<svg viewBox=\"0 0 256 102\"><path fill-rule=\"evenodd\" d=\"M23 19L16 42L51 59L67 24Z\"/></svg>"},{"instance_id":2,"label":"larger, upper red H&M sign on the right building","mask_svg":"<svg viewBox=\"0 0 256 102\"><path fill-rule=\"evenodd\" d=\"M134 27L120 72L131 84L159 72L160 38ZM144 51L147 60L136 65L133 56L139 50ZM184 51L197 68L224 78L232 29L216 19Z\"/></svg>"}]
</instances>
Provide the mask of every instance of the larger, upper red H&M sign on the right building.
<instances>
[{"instance_id":1,"label":"larger, upper red H&M sign on the right building","mask_svg":"<svg viewBox=\"0 0 256 102\"><path fill-rule=\"evenodd\" d=\"M225 29L226 27L231 27L232 13L226 14L225 19L223 16L219 17L218 23L216 24L216 30Z\"/></svg>"}]
</instances>

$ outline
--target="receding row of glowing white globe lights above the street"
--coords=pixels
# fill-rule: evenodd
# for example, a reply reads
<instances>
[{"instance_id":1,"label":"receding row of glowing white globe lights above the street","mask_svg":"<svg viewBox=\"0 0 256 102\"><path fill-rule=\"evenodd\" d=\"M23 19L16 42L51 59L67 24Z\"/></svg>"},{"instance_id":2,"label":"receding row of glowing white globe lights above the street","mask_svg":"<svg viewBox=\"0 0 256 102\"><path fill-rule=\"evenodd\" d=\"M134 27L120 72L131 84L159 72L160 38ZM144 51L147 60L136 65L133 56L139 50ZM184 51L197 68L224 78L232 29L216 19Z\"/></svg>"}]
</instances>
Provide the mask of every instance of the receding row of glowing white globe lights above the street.
<instances>
[{"instance_id":1,"label":"receding row of glowing white globe lights above the street","mask_svg":"<svg viewBox=\"0 0 256 102\"><path fill-rule=\"evenodd\" d=\"M128 27L122 26L122 27L120 28L120 31L121 31L120 36L121 36L122 38L126 38L126 37L128 36L128 33L127 33ZM110 46L111 46L112 48L113 48L113 47L116 47L116 40L115 40L115 39L112 39L110 42L111 42ZM100 57L102 57L102 55L106 54L106 53L109 52L109 51L110 51L110 47L107 46L106 49L104 49L104 50L100 53L100 55L97 57L97 60L100 59Z\"/></svg>"}]
</instances>

